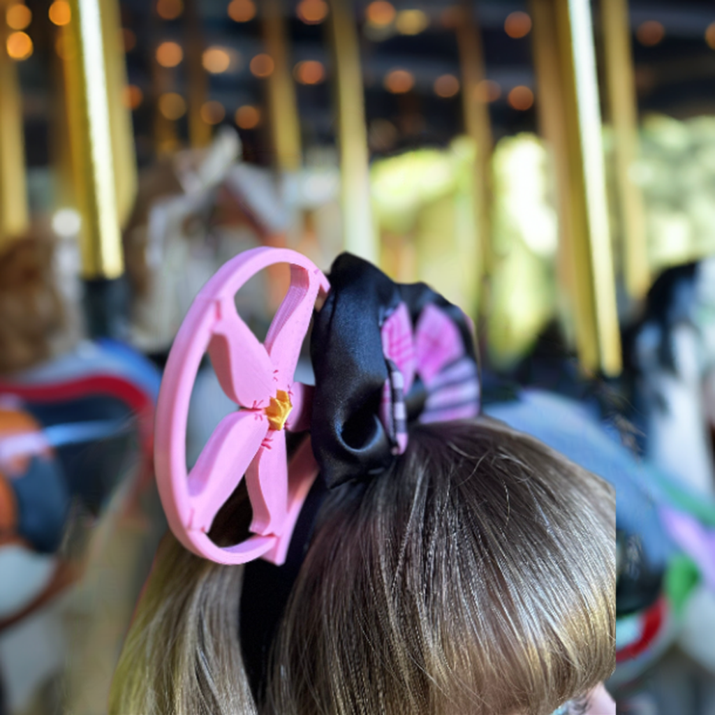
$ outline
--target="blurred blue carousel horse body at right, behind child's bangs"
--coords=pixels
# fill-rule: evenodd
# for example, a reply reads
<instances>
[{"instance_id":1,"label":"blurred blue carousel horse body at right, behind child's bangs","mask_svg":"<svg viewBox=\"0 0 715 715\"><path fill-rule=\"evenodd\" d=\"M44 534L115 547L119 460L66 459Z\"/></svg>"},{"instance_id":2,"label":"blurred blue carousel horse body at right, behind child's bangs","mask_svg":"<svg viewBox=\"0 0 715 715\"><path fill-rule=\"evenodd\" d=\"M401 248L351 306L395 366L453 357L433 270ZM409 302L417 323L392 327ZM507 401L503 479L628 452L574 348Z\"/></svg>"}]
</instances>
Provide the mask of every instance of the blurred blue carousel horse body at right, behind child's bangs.
<instances>
[{"instance_id":1,"label":"blurred blue carousel horse body at right, behind child's bangs","mask_svg":"<svg viewBox=\"0 0 715 715\"><path fill-rule=\"evenodd\" d=\"M603 423L595 401L589 405L504 385L485 379L485 413L530 433L616 488L617 666L609 688L616 696L627 693L676 643L711 666L711 644L688 649L684 640L696 621L711 620L715 613L715 502L638 460L618 430Z\"/></svg>"}]
</instances>

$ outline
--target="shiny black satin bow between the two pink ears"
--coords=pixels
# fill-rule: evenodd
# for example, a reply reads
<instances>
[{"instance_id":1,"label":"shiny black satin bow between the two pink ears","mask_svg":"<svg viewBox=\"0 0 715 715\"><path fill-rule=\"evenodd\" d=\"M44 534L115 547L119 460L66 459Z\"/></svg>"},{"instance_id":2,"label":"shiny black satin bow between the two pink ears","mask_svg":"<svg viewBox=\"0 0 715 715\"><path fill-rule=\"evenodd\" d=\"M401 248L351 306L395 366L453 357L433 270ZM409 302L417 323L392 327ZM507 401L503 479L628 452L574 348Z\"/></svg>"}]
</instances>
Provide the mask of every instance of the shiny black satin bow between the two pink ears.
<instances>
[{"instance_id":1,"label":"shiny black satin bow between the two pink ears","mask_svg":"<svg viewBox=\"0 0 715 715\"><path fill-rule=\"evenodd\" d=\"M332 264L330 292L315 315L310 356L315 395L310 433L315 458L329 488L366 478L395 462L390 438L379 418L388 366L380 328L400 302L413 324L432 303L457 325L467 355L474 344L464 313L424 283L398 284L361 258L343 253ZM424 403L420 380L406 396L408 422Z\"/></svg>"}]
</instances>

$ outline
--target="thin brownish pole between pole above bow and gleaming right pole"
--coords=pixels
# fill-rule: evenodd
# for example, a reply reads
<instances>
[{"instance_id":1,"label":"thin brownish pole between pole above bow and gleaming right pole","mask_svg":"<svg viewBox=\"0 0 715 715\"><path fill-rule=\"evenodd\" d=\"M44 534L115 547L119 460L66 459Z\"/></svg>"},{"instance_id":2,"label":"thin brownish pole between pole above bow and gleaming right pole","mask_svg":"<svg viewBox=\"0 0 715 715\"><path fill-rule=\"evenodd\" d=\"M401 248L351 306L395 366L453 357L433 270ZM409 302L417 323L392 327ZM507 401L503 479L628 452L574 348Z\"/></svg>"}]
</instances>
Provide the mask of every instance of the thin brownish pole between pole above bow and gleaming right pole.
<instances>
[{"instance_id":1,"label":"thin brownish pole between pole above bow and gleaming right pole","mask_svg":"<svg viewBox=\"0 0 715 715\"><path fill-rule=\"evenodd\" d=\"M472 0L463 0L457 16L455 31L462 74L462 99L464 128L477 147L475 159L474 209L481 242L483 272L488 274L493 265L491 250L491 192L493 139L489 119L488 99L480 92L480 83L486 78L484 50L480 28L475 21ZM475 276L478 280L479 276Z\"/></svg>"}]
</instances>

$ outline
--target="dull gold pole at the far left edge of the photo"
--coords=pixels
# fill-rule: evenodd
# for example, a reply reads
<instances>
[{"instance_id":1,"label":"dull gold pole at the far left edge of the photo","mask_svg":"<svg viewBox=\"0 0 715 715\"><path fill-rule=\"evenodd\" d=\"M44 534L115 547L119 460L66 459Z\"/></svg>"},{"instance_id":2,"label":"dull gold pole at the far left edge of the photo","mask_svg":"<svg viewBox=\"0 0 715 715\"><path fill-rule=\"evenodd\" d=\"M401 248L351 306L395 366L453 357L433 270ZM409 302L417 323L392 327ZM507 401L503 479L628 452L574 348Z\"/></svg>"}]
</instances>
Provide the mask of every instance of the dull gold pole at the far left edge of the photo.
<instances>
[{"instance_id":1,"label":"dull gold pole at the far left edge of the photo","mask_svg":"<svg viewBox=\"0 0 715 715\"><path fill-rule=\"evenodd\" d=\"M29 227L22 98L17 67L6 49L8 5L0 0L0 247Z\"/></svg>"}]
</instances>

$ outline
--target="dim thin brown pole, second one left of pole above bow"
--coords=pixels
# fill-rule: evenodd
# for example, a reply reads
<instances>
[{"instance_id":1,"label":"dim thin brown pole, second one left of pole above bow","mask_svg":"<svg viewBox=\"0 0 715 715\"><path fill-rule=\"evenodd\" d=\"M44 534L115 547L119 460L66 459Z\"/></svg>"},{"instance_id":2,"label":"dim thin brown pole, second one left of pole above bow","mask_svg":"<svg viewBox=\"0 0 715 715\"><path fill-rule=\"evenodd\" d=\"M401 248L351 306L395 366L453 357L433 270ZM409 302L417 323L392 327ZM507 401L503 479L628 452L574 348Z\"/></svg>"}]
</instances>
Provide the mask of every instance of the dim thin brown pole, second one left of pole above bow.
<instances>
[{"instance_id":1,"label":"dim thin brown pole, second one left of pole above bow","mask_svg":"<svg viewBox=\"0 0 715 715\"><path fill-rule=\"evenodd\" d=\"M201 116L201 108L209 94L209 82L203 65L204 38L198 0L184 0L184 28L189 87L189 144L194 149L200 149L211 142L211 126Z\"/></svg>"}]
</instances>

